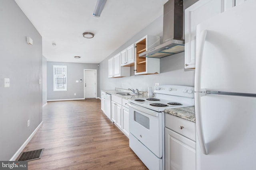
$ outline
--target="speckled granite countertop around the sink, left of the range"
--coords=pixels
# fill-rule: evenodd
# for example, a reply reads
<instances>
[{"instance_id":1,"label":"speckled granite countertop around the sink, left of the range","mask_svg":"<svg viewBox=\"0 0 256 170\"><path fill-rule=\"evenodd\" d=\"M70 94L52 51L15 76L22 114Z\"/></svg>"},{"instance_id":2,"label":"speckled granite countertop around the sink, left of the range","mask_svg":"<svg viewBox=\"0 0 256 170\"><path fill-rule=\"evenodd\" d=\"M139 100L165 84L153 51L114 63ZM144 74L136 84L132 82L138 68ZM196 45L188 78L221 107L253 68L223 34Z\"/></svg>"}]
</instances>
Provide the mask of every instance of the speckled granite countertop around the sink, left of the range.
<instances>
[{"instance_id":1,"label":"speckled granite countertop around the sink, left of the range","mask_svg":"<svg viewBox=\"0 0 256 170\"><path fill-rule=\"evenodd\" d=\"M141 91L140 91L140 95L122 96L120 94L116 94L116 93L122 93L122 92L132 93L130 90L122 89L122 88L115 88L115 90L101 90L101 91L102 92L106 92L106 93L111 94L111 95L118 96L120 98L127 99L127 100L129 100L129 99L147 98L148 97L148 93L147 92L141 92Z\"/></svg>"}]
</instances>

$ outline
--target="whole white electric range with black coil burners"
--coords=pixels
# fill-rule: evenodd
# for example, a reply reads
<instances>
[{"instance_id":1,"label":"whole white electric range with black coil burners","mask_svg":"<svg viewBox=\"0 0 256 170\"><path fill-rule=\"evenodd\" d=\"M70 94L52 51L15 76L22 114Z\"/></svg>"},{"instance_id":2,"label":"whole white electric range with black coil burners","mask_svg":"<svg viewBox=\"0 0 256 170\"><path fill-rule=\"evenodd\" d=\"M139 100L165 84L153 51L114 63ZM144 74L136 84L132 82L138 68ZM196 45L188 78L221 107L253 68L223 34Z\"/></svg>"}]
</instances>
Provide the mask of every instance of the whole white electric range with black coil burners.
<instances>
[{"instance_id":1,"label":"whole white electric range with black coil burners","mask_svg":"<svg viewBox=\"0 0 256 170\"><path fill-rule=\"evenodd\" d=\"M154 98L130 99L129 146L150 170L164 170L164 109L194 106L194 87L155 86Z\"/></svg>"}]
</instances>

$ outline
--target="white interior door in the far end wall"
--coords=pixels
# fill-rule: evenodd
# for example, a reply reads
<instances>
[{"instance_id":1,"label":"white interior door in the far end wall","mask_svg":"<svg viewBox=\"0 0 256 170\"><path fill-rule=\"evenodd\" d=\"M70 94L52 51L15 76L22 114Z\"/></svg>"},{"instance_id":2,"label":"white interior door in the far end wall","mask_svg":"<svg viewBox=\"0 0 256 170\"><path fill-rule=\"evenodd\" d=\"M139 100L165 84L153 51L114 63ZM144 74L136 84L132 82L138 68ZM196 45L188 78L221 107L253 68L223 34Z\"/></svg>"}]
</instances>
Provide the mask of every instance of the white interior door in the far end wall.
<instances>
[{"instance_id":1,"label":"white interior door in the far end wall","mask_svg":"<svg viewBox=\"0 0 256 170\"><path fill-rule=\"evenodd\" d=\"M84 98L96 98L96 70L84 70Z\"/></svg>"}]
</instances>

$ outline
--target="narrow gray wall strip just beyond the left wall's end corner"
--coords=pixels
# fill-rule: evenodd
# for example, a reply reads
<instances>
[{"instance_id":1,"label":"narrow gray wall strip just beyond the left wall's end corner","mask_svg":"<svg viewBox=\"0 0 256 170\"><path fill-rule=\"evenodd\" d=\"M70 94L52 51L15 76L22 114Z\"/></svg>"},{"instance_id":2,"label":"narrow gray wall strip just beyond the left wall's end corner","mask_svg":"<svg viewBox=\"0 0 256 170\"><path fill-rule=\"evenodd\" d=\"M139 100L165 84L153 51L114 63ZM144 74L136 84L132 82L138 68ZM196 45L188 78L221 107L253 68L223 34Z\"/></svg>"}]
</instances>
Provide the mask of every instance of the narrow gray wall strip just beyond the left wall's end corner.
<instances>
[{"instance_id":1,"label":"narrow gray wall strip just beyond the left wall's end corner","mask_svg":"<svg viewBox=\"0 0 256 170\"><path fill-rule=\"evenodd\" d=\"M47 104L47 60L42 57L42 90L43 90L43 104Z\"/></svg>"}]
</instances>

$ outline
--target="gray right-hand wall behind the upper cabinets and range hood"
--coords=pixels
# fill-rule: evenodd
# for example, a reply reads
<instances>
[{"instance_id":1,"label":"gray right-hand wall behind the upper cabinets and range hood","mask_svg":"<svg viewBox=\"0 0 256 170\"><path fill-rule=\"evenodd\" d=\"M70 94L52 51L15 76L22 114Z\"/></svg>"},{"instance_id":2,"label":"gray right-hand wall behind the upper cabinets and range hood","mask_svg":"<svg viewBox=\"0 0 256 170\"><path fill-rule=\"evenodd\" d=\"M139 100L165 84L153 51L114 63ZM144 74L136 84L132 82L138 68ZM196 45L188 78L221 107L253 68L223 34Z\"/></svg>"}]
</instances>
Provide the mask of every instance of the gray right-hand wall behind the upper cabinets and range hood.
<instances>
[{"instance_id":1,"label":"gray right-hand wall behind the upper cabinets and range hood","mask_svg":"<svg viewBox=\"0 0 256 170\"><path fill-rule=\"evenodd\" d=\"M108 78L108 59L128 47L128 45L136 42L145 35L160 36L160 41L162 41L162 17L163 16L160 16L146 28L142 29L128 42L126 42L100 63L100 90L109 90L118 87L125 89L138 88L140 91L147 91L148 86L154 86L155 83L160 83L160 85L175 84L194 86L194 70L184 69L184 53L179 53L160 59L160 74L134 76L134 66L132 66L130 67L130 77Z\"/></svg>"}]
</instances>

